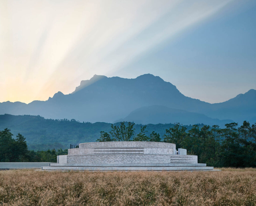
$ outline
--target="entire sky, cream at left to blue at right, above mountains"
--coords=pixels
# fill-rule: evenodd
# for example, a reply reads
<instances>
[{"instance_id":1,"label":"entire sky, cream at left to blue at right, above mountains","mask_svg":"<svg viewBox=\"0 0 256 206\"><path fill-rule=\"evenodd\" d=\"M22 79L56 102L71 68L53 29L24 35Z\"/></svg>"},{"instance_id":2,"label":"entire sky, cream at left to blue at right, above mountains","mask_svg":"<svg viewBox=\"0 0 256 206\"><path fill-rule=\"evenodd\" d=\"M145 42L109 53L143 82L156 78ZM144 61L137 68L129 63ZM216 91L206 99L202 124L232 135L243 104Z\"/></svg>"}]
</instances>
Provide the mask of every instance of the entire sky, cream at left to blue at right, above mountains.
<instances>
[{"instance_id":1,"label":"entire sky, cream at left to blue at right, above mountains","mask_svg":"<svg viewBox=\"0 0 256 206\"><path fill-rule=\"evenodd\" d=\"M0 1L0 102L151 73L217 103L256 89L256 1Z\"/></svg>"}]
</instances>

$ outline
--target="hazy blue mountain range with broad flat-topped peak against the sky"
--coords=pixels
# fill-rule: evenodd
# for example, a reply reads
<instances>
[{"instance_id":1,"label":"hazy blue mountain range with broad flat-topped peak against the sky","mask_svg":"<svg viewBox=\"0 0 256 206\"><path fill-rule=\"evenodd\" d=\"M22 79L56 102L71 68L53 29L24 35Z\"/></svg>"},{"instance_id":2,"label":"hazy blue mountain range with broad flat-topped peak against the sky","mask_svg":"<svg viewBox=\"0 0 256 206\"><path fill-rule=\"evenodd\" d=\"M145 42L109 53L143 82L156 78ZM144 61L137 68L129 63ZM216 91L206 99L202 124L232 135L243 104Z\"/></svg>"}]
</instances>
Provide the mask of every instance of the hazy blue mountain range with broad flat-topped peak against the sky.
<instances>
[{"instance_id":1,"label":"hazy blue mountain range with broad flat-topped peak against the sky","mask_svg":"<svg viewBox=\"0 0 256 206\"><path fill-rule=\"evenodd\" d=\"M179 121L180 123L187 121L188 117L198 120L197 123L206 123L204 121L208 117L218 119L212 120L212 124L220 124L220 120L227 119L241 124L244 120L256 119L256 90L251 89L222 103L210 104L184 96L173 84L152 74L144 74L135 79L94 75L90 80L81 81L80 86L68 95L59 91L47 101L33 101L29 104L2 102L0 114L40 115L48 119L67 118L81 122L115 122L123 118L125 120L138 108L147 107L148 113L155 112L155 107L150 107L153 105L164 106L166 109L164 112L162 108L158 117L155 116L158 120L166 119L163 114L171 115L170 109L174 109L172 111L176 110L176 114L178 110L185 110L178 112L180 115L177 115L177 118L184 120ZM184 112L187 112L187 115ZM198 114L193 116L189 112ZM145 123L152 123L147 119L149 116L141 118L144 118Z\"/></svg>"}]
</instances>

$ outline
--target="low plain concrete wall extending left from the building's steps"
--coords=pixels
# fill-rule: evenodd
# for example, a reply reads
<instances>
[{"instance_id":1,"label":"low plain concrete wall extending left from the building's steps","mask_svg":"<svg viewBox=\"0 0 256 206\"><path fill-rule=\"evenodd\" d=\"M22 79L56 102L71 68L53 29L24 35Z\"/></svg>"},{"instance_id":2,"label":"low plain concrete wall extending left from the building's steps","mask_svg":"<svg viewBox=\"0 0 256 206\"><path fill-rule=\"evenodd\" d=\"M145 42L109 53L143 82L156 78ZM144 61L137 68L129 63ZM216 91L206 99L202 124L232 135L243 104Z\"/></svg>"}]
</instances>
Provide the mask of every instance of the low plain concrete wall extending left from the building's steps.
<instances>
[{"instance_id":1,"label":"low plain concrete wall extending left from the building's steps","mask_svg":"<svg viewBox=\"0 0 256 206\"><path fill-rule=\"evenodd\" d=\"M41 169L52 162L0 162L0 169Z\"/></svg>"}]
</instances>

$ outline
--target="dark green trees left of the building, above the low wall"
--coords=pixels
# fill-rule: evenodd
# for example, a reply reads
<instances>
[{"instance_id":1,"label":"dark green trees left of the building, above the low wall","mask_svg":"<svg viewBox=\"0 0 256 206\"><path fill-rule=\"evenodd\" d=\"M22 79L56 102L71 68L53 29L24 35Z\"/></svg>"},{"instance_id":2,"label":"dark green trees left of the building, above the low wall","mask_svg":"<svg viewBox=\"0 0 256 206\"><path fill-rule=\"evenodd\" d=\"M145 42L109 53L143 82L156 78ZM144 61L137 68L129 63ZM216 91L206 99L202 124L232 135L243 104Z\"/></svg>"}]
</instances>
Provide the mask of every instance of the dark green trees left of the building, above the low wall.
<instances>
[{"instance_id":1,"label":"dark green trees left of the building, above the low wall","mask_svg":"<svg viewBox=\"0 0 256 206\"><path fill-rule=\"evenodd\" d=\"M8 128L0 131L0 162L56 162L57 155L68 153L67 149L28 150L25 139L20 133L14 139Z\"/></svg>"}]
</instances>

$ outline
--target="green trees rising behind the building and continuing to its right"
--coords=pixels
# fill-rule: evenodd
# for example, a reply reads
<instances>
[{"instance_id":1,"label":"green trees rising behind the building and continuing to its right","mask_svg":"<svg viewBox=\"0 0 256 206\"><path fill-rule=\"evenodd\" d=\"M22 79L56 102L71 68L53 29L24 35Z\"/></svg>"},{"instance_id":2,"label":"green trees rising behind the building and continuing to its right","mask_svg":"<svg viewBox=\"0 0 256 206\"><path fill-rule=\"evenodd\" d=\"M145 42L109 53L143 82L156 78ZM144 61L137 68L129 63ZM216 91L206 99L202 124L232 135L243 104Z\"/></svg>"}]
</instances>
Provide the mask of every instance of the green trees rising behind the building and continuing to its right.
<instances>
[{"instance_id":1,"label":"green trees rising behind the building and continuing to its right","mask_svg":"<svg viewBox=\"0 0 256 206\"><path fill-rule=\"evenodd\" d=\"M135 134L133 122L121 122L111 125L111 131L100 132L97 142L111 141L150 141L175 143L176 148L187 149L187 154L197 155L199 163L214 167L256 167L256 123L250 125L244 121L225 124L221 129L218 125L204 125L199 129L194 124L190 130L180 123L166 129L163 140L159 133L153 131L150 136L145 133L146 125Z\"/></svg>"}]
</instances>

